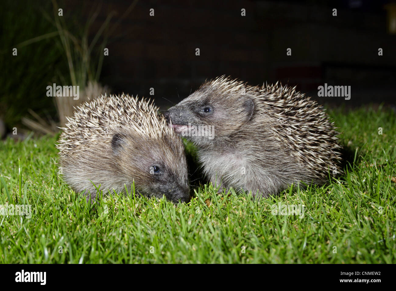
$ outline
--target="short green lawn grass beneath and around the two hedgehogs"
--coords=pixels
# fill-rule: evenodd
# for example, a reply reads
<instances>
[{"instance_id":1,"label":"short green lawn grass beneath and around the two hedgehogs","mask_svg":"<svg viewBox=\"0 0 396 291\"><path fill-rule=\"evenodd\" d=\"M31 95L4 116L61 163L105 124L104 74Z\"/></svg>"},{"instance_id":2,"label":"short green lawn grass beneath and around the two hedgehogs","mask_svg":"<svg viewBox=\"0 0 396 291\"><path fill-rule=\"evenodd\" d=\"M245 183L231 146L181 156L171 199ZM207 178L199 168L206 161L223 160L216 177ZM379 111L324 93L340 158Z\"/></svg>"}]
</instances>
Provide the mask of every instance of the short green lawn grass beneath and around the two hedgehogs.
<instances>
[{"instance_id":1,"label":"short green lawn grass beneath and around the two hedgehogs","mask_svg":"<svg viewBox=\"0 0 396 291\"><path fill-rule=\"evenodd\" d=\"M257 200L204 185L189 204L129 194L91 207L59 177L55 137L1 141L0 204L33 213L0 215L0 262L395 263L395 114L330 113L344 132L345 174ZM279 202L304 204L304 218L272 215Z\"/></svg>"}]
</instances>

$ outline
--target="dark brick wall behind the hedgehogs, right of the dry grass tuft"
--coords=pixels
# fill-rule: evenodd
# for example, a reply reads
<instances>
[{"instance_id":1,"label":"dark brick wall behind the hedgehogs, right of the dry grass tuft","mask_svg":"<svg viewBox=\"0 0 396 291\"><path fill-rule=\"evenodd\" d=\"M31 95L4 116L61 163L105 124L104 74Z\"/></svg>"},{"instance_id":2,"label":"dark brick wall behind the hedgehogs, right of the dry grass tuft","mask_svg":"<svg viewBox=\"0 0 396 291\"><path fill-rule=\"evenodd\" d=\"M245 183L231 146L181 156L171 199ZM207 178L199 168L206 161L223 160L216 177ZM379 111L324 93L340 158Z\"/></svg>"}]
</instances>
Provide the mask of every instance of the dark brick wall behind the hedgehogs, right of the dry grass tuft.
<instances>
[{"instance_id":1,"label":"dark brick wall behind the hedgehogs, right of the dry grass tuft","mask_svg":"<svg viewBox=\"0 0 396 291\"><path fill-rule=\"evenodd\" d=\"M351 86L349 101L320 100L330 105L394 104L396 36L386 29L386 3L141 1L122 22L122 36L109 44L102 81L115 92L145 96L154 87L163 107L171 103L162 97L177 103L223 74L250 84L280 80L313 96L324 83ZM110 6L122 11L128 3Z\"/></svg>"}]
</instances>

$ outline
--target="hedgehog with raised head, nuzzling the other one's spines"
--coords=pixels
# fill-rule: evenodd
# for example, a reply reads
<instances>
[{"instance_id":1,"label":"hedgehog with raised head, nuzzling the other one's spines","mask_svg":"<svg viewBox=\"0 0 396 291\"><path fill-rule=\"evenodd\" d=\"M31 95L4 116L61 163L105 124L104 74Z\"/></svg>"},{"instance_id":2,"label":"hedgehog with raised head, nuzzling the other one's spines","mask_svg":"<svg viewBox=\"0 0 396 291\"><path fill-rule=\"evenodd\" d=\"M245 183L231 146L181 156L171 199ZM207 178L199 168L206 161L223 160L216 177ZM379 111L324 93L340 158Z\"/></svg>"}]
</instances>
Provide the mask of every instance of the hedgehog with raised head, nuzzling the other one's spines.
<instances>
[{"instance_id":1,"label":"hedgehog with raised head, nuzzling the other one's spines","mask_svg":"<svg viewBox=\"0 0 396 291\"><path fill-rule=\"evenodd\" d=\"M222 76L202 84L165 117L198 147L204 173L216 187L268 196L299 181L324 184L329 171L341 172L333 123L295 87L248 86ZM214 135L198 126L213 128ZM192 128L195 134L189 134Z\"/></svg>"}]
</instances>

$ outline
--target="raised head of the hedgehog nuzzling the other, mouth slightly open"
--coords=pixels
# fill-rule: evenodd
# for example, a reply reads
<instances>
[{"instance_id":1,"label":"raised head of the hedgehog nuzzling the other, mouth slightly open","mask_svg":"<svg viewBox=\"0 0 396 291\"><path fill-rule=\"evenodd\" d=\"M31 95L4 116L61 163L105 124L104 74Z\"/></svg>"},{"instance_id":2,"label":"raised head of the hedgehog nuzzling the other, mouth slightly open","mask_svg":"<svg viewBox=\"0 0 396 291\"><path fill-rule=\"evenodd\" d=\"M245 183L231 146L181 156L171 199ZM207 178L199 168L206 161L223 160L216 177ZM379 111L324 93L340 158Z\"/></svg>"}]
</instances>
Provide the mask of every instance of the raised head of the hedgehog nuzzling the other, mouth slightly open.
<instances>
[{"instance_id":1,"label":"raised head of the hedgehog nuzzling the other, mouth slightly open","mask_svg":"<svg viewBox=\"0 0 396 291\"><path fill-rule=\"evenodd\" d=\"M200 88L165 113L169 125L198 146L226 142L254 112L246 94Z\"/></svg>"}]
</instances>

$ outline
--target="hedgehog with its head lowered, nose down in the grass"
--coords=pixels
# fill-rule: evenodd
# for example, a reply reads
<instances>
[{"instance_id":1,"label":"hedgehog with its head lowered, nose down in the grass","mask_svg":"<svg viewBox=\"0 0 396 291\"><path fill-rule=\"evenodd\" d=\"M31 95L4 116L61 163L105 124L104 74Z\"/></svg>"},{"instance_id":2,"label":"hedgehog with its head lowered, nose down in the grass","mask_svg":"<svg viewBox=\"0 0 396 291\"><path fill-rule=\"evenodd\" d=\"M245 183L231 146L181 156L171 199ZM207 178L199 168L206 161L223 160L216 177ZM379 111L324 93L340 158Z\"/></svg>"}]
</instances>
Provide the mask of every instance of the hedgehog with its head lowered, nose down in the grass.
<instances>
[{"instance_id":1,"label":"hedgehog with its head lowered, nose down in the grass","mask_svg":"<svg viewBox=\"0 0 396 291\"><path fill-rule=\"evenodd\" d=\"M119 193L134 182L146 196L190 200L183 143L153 103L102 95L67 121L57 148L64 180L76 192L95 199L95 186Z\"/></svg>"}]
</instances>

